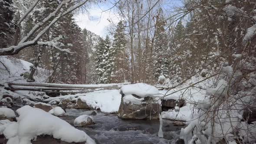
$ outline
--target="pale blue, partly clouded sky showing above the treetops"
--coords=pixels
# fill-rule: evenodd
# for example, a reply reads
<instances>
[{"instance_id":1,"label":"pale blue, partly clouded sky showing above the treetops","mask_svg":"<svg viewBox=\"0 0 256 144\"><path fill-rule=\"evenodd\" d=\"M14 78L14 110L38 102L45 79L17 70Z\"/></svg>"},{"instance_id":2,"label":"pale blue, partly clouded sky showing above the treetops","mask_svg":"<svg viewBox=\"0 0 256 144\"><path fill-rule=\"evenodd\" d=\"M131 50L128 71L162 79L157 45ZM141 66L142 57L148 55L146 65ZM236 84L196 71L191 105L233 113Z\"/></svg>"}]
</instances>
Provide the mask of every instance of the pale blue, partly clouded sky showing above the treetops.
<instances>
[{"instance_id":1,"label":"pale blue, partly clouded sky showing above the treetops","mask_svg":"<svg viewBox=\"0 0 256 144\"><path fill-rule=\"evenodd\" d=\"M102 0L103 1L103 0ZM82 29L86 28L91 32L105 37L108 35L108 26L117 24L119 16L114 9L108 10L113 7L115 0L105 0L105 2L91 5L89 13L79 13L75 15L75 21ZM162 6L165 10L171 10L174 5L181 5L181 0L162 0ZM107 10L107 11L105 11ZM111 20L111 22L109 22Z\"/></svg>"}]
</instances>

